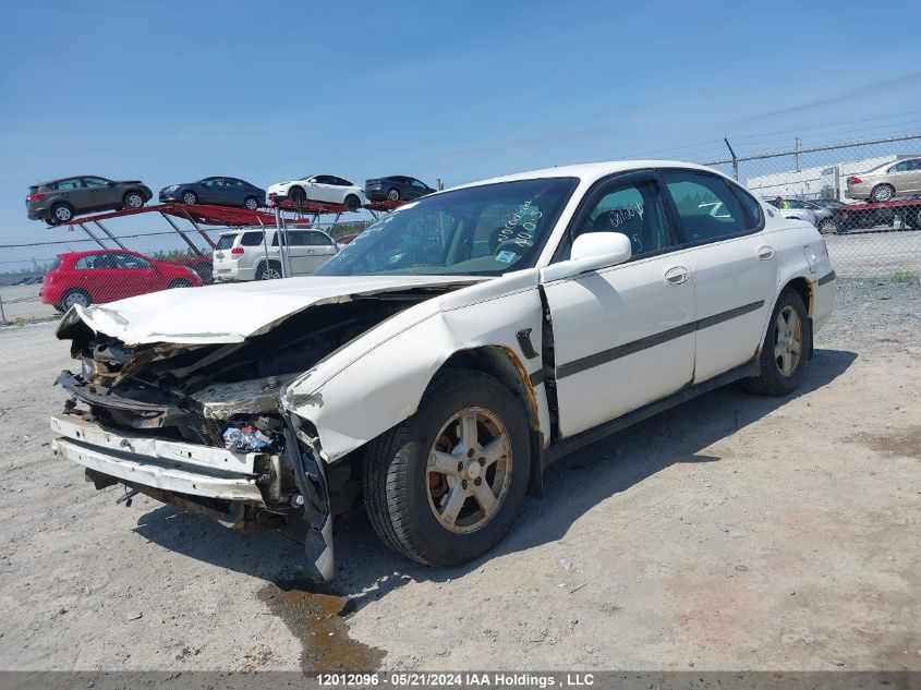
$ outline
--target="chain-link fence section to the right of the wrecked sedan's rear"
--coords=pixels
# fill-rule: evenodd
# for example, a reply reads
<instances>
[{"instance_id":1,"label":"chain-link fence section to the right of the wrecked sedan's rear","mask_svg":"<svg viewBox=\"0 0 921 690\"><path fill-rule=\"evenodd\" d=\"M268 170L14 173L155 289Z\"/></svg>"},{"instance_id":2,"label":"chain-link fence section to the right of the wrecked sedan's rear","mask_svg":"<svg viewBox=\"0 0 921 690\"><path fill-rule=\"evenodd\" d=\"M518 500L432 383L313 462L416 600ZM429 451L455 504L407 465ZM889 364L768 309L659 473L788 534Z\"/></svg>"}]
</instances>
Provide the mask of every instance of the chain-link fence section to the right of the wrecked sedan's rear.
<instances>
[{"instance_id":1,"label":"chain-link fence section to the right of the wrecked sedan's rear","mask_svg":"<svg viewBox=\"0 0 921 690\"><path fill-rule=\"evenodd\" d=\"M730 155L705 165L735 177L781 215L815 225L839 277L918 282L921 135Z\"/></svg>"}]
</instances>

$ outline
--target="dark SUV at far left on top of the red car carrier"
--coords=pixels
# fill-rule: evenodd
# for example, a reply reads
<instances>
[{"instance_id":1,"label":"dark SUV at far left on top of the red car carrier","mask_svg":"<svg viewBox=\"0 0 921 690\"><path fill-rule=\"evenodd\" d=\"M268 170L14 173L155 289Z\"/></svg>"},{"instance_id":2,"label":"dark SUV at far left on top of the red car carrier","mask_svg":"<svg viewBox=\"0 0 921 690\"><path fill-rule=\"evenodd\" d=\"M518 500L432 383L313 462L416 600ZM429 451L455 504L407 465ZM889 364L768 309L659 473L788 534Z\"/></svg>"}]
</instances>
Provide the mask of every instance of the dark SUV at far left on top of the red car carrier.
<instances>
[{"instance_id":1,"label":"dark SUV at far left on top of the red car carrier","mask_svg":"<svg viewBox=\"0 0 921 690\"><path fill-rule=\"evenodd\" d=\"M80 175L32 185L25 205L29 220L45 220L57 226L92 211L141 208L153 196L150 187L140 180L117 182Z\"/></svg>"}]
</instances>

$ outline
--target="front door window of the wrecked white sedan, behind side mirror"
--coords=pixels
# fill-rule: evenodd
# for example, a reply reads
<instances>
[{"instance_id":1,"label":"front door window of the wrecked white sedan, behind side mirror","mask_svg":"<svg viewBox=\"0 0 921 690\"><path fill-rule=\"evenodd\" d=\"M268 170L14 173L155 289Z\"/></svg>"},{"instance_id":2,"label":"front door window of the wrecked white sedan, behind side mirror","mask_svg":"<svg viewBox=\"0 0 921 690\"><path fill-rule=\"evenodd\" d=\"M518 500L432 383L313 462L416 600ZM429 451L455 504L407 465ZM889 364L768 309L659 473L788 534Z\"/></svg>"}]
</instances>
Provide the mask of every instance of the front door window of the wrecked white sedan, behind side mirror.
<instances>
[{"instance_id":1,"label":"front door window of the wrecked white sedan, behind side mirror","mask_svg":"<svg viewBox=\"0 0 921 690\"><path fill-rule=\"evenodd\" d=\"M633 258L659 252L672 244L658 190L652 181L614 183L580 222L572 239L586 232L626 234L633 246Z\"/></svg>"}]
</instances>

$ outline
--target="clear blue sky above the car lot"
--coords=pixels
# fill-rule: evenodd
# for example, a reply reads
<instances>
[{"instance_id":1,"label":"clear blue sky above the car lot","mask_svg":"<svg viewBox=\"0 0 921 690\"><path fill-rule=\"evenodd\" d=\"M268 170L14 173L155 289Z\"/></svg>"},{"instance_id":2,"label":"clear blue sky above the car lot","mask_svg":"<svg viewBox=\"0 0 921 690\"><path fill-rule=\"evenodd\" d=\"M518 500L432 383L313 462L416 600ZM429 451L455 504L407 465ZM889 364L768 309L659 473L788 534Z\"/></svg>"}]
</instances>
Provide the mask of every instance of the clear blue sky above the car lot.
<instances>
[{"instance_id":1,"label":"clear blue sky above the car lot","mask_svg":"<svg viewBox=\"0 0 921 690\"><path fill-rule=\"evenodd\" d=\"M29 184L69 174L140 178L155 193L209 174L451 184L710 160L723 136L744 154L921 131L921 55L899 38L921 4L889 1L875 22L848 5L7 2L0 244L74 237L24 208Z\"/></svg>"}]
</instances>

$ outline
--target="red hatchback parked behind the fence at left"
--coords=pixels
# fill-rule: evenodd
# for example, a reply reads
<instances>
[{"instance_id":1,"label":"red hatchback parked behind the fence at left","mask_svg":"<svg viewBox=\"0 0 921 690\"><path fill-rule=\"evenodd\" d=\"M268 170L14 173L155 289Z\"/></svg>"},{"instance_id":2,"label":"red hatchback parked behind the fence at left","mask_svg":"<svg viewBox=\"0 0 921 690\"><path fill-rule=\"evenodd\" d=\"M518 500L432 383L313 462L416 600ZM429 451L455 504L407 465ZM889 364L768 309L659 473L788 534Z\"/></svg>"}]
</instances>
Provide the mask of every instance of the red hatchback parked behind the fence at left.
<instances>
[{"instance_id":1,"label":"red hatchback parked behind the fence at left","mask_svg":"<svg viewBox=\"0 0 921 690\"><path fill-rule=\"evenodd\" d=\"M95 250L59 254L45 274L38 294L46 304L64 312L74 304L114 302L167 288L202 285L185 266L158 262L128 250Z\"/></svg>"}]
</instances>

